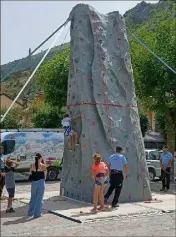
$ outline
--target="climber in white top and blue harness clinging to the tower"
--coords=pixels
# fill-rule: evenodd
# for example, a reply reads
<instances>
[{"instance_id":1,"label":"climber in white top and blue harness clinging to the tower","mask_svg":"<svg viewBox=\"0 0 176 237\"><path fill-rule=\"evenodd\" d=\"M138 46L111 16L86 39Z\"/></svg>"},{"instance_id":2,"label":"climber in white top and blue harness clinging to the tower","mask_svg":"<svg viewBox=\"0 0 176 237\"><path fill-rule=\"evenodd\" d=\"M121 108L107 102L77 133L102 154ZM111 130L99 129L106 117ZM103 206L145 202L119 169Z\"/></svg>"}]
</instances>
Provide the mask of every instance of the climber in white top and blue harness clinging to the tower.
<instances>
[{"instance_id":1,"label":"climber in white top and blue harness clinging to the tower","mask_svg":"<svg viewBox=\"0 0 176 237\"><path fill-rule=\"evenodd\" d=\"M76 131L73 131L71 128L71 120L80 118L81 114L76 116L70 116L68 113L65 114L64 119L62 120L62 126L64 128L64 134L68 137L68 148L72 149L71 136L74 137L74 145L79 146L79 136Z\"/></svg>"}]
</instances>

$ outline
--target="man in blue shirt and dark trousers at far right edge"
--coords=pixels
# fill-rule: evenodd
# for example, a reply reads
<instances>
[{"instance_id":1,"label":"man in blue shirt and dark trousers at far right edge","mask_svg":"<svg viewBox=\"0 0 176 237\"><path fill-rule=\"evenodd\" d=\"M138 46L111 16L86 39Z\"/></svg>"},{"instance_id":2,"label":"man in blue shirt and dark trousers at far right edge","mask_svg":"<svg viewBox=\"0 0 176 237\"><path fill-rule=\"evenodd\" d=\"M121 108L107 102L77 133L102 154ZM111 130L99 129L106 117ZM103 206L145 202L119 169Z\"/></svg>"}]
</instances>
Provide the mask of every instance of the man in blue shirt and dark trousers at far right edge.
<instances>
[{"instance_id":1,"label":"man in blue shirt and dark trousers at far right edge","mask_svg":"<svg viewBox=\"0 0 176 237\"><path fill-rule=\"evenodd\" d=\"M163 147L163 153L160 158L161 166L161 180L162 188L160 191L167 191L170 189L170 174L171 174L171 165L174 161L173 155L168 151L168 147Z\"/></svg>"}]
</instances>

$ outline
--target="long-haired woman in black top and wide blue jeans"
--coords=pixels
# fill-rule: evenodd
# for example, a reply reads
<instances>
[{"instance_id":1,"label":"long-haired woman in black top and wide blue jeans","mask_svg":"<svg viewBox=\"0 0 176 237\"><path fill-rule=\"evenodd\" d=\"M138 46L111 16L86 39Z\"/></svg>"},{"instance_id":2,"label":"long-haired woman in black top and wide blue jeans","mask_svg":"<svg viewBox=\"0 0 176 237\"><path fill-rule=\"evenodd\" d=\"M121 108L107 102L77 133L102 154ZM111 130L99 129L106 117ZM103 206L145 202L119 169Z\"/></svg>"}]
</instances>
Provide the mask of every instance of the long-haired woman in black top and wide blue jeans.
<instances>
[{"instance_id":1,"label":"long-haired woman in black top and wide blue jeans","mask_svg":"<svg viewBox=\"0 0 176 237\"><path fill-rule=\"evenodd\" d=\"M45 171L43 157L37 153L35 156L35 163L31 165L31 199L29 203L28 216L38 218L41 216L43 207L43 196L45 191Z\"/></svg>"}]
</instances>

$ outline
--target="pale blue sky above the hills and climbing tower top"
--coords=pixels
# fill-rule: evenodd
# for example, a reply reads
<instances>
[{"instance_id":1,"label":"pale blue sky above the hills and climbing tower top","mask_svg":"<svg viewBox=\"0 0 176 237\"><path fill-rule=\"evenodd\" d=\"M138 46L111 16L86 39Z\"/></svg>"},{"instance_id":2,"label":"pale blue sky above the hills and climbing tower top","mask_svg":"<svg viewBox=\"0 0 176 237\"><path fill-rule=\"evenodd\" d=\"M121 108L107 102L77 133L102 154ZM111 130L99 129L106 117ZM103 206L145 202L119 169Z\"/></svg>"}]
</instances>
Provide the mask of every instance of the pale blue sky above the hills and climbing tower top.
<instances>
[{"instance_id":1,"label":"pale blue sky above the hills and climbing tower top","mask_svg":"<svg viewBox=\"0 0 176 237\"><path fill-rule=\"evenodd\" d=\"M141 1L2 1L1 64L26 57L29 48L36 48L67 19L72 8L81 2L93 6L100 13L119 11L124 14ZM63 42L68 27L56 45ZM38 52L48 48L52 41L53 38Z\"/></svg>"}]
</instances>

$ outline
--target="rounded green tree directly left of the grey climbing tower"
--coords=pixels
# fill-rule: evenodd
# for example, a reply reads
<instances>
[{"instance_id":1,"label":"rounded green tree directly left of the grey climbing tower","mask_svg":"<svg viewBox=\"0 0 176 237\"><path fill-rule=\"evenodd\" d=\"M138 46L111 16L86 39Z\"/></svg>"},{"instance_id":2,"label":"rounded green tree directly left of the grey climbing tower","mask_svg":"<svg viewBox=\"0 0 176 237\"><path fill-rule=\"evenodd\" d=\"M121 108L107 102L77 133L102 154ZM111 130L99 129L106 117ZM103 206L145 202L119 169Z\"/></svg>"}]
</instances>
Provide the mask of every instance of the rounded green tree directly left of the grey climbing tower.
<instances>
[{"instance_id":1,"label":"rounded green tree directly left of the grey climbing tower","mask_svg":"<svg viewBox=\"0 0 176 237\"><path fill-rule=\"evenodd\" d=\"M67 47L47 61L37 73L39 85L45 91L45 100L51 106L62 109L67 101L70 48Z\"/></svg>"}]
</instances>

